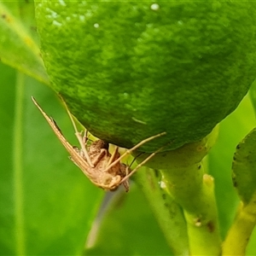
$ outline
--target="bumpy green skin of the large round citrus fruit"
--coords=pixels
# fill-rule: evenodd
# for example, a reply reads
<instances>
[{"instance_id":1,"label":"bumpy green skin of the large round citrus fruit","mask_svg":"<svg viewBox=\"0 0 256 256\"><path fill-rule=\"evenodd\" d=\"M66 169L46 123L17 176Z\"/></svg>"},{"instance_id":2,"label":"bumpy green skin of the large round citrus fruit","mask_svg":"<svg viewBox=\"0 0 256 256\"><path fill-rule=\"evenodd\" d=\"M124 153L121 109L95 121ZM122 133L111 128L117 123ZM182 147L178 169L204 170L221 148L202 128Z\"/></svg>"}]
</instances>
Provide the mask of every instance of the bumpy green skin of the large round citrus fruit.
<instances>
[{"instance_id":1,"label":"bumpy green skin of the large round citrus fruit","mask_svg":"<svg viewBox=\"0 0 256 256\"><path fill-rule=\"evenodd\" d=\"M146 152L200 140L241 102L256 73L255 9L254 2L36 1L52 88L110 143L131 148L166 131Z\"/></svg>"}]
</instances>

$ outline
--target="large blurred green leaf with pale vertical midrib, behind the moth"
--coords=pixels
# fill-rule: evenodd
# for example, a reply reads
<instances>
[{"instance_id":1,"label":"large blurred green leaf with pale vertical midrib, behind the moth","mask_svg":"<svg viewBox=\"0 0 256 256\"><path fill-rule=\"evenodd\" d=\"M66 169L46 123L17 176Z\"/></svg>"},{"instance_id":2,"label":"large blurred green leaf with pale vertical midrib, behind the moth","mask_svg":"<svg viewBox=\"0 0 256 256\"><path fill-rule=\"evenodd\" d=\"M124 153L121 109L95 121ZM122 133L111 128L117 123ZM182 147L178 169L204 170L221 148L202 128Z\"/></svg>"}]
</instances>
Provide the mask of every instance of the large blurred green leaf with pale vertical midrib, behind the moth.
<instances>
[{"instance_id":1,"label":"large blurred green leaf with pale vertical midrib, behind the moth","mask_svg":"<svg viewBox=\"0 0 256 256\"><path fill-rule=\"evenodd\" d=\"M68 160L32 103L33 95L67 139L75 141L73 126L52 91L10 67L0 68L0 252L79 255L102 190Z\"/></svg>"}]
</instances>

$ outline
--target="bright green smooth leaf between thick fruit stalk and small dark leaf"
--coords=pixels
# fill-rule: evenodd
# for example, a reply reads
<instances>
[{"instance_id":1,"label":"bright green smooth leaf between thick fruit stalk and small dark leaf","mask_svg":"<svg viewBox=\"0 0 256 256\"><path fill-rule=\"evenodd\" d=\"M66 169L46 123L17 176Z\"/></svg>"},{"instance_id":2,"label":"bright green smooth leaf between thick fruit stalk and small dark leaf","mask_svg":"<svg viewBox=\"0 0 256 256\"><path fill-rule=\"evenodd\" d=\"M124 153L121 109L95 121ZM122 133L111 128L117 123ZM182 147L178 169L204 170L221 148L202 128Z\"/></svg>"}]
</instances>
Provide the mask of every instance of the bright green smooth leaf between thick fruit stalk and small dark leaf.
<instances>
[{"instance_id":1,"label":"bright green smooth leaf between thick fruit stalk and small dark leaf","mask_svg":"<svg viewBox=\"0 0 256 256\"><path fill-rule=\"evenodd\" d=\"M224 238L236 214L239 199L231 179L231 163L237 143L253 129L252 103L246 96L236 111L220 123L216 145L207 157L208 172L215 180L221 235Z\"/></svg>"}]
</instances>

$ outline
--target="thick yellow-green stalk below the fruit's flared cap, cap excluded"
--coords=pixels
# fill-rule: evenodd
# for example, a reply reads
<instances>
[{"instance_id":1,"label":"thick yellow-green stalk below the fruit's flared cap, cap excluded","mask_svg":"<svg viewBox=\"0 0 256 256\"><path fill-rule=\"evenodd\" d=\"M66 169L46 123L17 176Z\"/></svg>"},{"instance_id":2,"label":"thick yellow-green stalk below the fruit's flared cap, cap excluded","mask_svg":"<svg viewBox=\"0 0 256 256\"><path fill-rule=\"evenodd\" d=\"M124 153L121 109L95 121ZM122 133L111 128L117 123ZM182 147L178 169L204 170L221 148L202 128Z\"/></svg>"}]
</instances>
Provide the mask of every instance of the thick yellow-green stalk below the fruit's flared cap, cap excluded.
<instances>
[{"instance_id":1,"label":"thick yellow-green stalk below the fruit's flared cap, cap excluded","mask_svg":"<svg viewBox=\"0 0 256 256\"><path fill-rule=\"evenodd\" d=\"M183 207L190 255L219 255L221 240L213 179L200 166L161 172L166 189Z\"/></svg>"}]
</instances>

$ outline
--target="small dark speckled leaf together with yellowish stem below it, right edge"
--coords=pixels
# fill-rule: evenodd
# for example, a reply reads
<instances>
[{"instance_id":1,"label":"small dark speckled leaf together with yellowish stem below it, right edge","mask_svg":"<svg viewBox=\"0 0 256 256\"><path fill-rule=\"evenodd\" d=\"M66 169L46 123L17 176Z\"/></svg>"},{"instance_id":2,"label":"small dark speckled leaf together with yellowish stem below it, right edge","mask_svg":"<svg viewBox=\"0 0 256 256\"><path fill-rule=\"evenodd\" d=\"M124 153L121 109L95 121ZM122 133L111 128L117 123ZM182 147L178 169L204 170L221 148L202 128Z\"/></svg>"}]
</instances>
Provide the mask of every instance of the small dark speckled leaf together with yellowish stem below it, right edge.
<instances>
[{"instance_id":1,"label":"small dark speckled leaf together with yellowish stem below it, right edge","mask_svg":"<svg viewBox=\"0 0 256 256\"><path fill-rule=\"evenodd\" d=\"M224 255L244 255L256 224L256 128L236 147L232 177L242 203L223 244ZM255 245L255 240L251 241ZM252 247L250 248L252 253ZM255 250L254 250L255 253ZM254 254L253 253L253 254Z\"/></svg>"}]
</instances>

